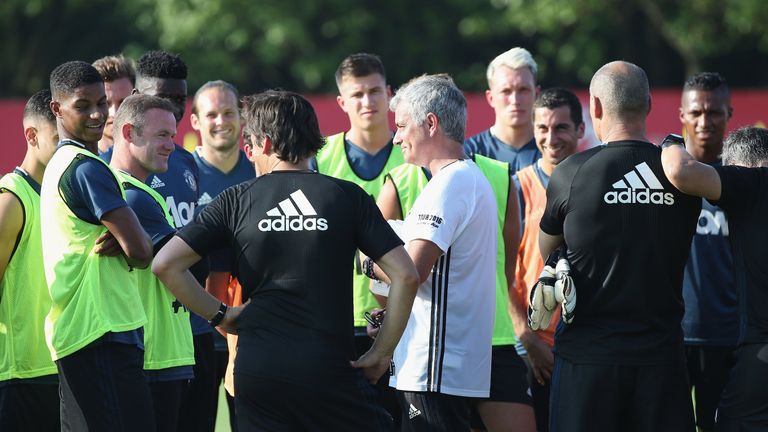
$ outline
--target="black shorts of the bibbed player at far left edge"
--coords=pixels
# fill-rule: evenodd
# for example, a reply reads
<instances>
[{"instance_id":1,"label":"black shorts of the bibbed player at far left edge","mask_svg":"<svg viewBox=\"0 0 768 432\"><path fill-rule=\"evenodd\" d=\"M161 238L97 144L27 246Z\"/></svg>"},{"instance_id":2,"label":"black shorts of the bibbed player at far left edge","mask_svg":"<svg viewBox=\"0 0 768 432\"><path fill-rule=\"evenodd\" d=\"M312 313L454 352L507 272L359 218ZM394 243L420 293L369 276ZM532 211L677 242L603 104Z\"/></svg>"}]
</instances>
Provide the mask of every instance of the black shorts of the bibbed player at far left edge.
<instances>
[{"instance_id":1,"label":"black shorts of the bibbed player at far left edge","mask_svg":"<svg viewBox=\"0 0 768 432\"><path fill-rule=\"evenodd\" d=\"M59 431L59 384L39 378L19 379L0 386L0 431Z\"/></svg>"}]
</instances>

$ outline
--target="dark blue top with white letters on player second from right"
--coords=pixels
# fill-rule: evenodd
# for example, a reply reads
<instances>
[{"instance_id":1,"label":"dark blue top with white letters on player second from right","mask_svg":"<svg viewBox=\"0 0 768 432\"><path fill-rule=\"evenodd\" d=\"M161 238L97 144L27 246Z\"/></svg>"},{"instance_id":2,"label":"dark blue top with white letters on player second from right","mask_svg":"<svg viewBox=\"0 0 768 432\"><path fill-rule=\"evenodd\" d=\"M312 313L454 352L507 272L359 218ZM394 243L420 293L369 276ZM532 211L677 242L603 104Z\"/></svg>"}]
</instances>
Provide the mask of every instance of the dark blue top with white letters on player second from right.
<instances>
[{"instance_id":1,"label":"dark blue top with white letters on player second from right","mask_svg":"<svg viewBox=\"0 0 768 432\"><path fill-rule=\"evenodd\" d=\"M721 208L707 200L702 200L685 266L683 299L686 344L736 346L739 311L728 218Z\"/></svg>"}]
</instances>

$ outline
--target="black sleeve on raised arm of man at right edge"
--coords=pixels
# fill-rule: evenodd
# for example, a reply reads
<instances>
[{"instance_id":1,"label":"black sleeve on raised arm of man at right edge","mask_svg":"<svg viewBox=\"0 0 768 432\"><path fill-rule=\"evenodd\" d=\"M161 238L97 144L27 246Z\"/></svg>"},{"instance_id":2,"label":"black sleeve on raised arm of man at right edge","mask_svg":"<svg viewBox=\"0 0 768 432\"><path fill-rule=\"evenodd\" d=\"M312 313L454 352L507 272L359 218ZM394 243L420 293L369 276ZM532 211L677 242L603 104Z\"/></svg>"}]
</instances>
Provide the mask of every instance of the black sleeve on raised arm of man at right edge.
<instances>
[{"instance_id":1,"label":"black sleeve on raised arm of man at right edge","mask_svg":"<svg viewBox=\"0 0 768 432\"><path fill-rule=\"evenodd\" d=\"M727 212L749 210L762 199L768 180L768 169L739 166L717 166L720 176L720 199L710 201Z\"/></svg>"}]
</instances>

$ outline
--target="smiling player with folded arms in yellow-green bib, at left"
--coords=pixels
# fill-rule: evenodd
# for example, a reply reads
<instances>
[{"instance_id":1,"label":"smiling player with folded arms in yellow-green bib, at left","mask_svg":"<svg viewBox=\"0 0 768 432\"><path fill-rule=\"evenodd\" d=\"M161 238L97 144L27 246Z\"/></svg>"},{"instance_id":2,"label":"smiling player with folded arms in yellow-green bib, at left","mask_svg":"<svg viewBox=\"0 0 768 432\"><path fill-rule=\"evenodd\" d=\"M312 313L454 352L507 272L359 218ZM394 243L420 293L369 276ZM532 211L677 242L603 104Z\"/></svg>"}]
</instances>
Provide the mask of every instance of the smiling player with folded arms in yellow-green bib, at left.
<instances>
[{"instance_id":1,"label":"smiling player with folded arms in yellow-green bib, at left","mask_svg":"<svg viewBox=\"0 0 768 432\"><path fill-rule=\"evenodd\" d=\"M146 315L131 272L149 265L152 245L96 155L104 83L93 66L73 61L53 70L50 85L61 141L43 176L40 221L62 429L153 430L142 370Z\"/></svg>"}]
</instances>

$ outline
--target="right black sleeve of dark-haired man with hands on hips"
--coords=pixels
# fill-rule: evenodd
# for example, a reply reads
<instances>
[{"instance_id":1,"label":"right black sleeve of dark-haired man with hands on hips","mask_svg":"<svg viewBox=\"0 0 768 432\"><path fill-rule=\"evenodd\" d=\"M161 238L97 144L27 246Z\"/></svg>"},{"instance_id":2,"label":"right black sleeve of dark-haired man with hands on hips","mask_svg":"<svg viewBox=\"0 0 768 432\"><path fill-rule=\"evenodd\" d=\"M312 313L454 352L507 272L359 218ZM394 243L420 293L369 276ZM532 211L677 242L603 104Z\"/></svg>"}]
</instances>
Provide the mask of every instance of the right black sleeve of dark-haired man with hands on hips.
<instances>
[{"instance_id":1,"label":"right black sleeve of dark-haired man with hands on hips","mask_svg":"<svg viewBox=\"0 0 768 432\"><path fill-rule=\"evenodd\" d=\"M384 220L373 198L359 187L356 189L353 199L357 201L357 248L375 261L403 242Z\"/></svg>"}]
</instances>

